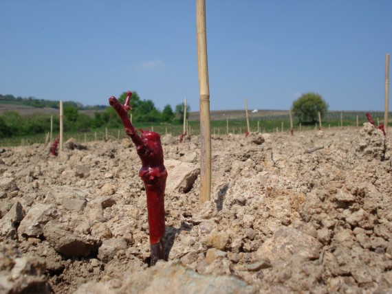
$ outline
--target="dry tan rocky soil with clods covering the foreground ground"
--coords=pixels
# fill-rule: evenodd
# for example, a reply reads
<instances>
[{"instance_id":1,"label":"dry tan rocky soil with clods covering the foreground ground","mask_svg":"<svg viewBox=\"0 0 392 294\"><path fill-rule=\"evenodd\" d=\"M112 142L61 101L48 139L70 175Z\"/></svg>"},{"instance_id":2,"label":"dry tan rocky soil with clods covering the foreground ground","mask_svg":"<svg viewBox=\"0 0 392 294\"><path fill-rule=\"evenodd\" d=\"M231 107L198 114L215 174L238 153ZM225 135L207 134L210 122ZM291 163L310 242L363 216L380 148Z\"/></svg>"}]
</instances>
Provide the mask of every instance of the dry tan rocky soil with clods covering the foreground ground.
<instances>
[{"instance_id":1,"label":"dry tan rocky soil with clods covering the foreground ground","mask_svg":"<svg viewBox=\"0 0 392 294\"><path fill-rule=\"evenodd\" d=\"M392 293L390 137L362 128L162 137L168 262L149 264L130 139L0 150L0 293Z\"/></svg>"}]
</instances>

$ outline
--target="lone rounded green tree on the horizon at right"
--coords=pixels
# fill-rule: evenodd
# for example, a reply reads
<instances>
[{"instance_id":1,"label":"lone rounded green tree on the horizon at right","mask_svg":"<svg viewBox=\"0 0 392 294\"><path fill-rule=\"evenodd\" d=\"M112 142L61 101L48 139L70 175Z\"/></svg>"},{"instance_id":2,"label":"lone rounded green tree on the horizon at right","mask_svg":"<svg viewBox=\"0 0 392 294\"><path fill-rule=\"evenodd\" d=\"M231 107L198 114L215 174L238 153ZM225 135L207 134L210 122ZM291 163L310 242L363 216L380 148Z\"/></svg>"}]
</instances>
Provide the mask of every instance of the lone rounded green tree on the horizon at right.
<instances>
[{"instance_id":1,"label":"lone rounded green tree on the horizon at right","mask_svg":"<svg viewBox=\"0 0 392 294\"><path fill-rule=\"evenodd\" d=\"M317 122L318 112L323 117L327 110L327 102L318 93L304 93L292 106L292 112L300 122Z\"/></svg>"}]
</instances>

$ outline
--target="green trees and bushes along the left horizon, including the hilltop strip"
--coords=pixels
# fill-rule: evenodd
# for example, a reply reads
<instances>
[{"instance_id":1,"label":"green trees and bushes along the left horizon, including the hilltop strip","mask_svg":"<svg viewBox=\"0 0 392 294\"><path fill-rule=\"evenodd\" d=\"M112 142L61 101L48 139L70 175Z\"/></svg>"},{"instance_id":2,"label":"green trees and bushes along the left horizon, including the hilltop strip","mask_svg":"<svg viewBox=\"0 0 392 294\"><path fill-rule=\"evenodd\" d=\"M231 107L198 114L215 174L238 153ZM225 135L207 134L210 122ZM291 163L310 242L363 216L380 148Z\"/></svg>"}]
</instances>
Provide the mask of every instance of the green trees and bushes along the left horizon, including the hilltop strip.
<instances>
[{"instance_id":1,"label":"green trees and bushes along the left horizon, including the hilltop strip","mask_svg":"<svg viewBox=\"0 0 392 294\"><path fill-rule=\"evenodd\" d=\"M127 93L122 93L118 99L124 104ZM58 108L58 102L48 100L36 100L34 98L14 98L12 95L0 95L4 101L23 102L25 105L36 105L35 107ZM40 104L42 102L42 104ZM30 103L30 104L27 104ZM52 104L51 104L52 103ZM41 106L39 106L41 105ZM104 111L96 111L94 117L85 113L80 113L80 104L76 102L65 102L64 109L64 131L89 132L99 128L121 128L122 122L118 114L111 106L102 106ZM130 106L133 122L149 122L155 124L179 124L183 120L184 103L177 104L175 113L172 107L167 104L162 111L155 107L152 100L141 100L138 93L133 92ZM84 108L85 109L85 108ZM190 107L187 105L188 111ZM177 113L177 115L176 115ZM59 117L52 117L54 132L59 129ZM21 116L17 111L7 111L0 115L0 137L19 137L25 135L35 135L50 131L51 115L30 115Z\"/></svg>"}]
</instances>

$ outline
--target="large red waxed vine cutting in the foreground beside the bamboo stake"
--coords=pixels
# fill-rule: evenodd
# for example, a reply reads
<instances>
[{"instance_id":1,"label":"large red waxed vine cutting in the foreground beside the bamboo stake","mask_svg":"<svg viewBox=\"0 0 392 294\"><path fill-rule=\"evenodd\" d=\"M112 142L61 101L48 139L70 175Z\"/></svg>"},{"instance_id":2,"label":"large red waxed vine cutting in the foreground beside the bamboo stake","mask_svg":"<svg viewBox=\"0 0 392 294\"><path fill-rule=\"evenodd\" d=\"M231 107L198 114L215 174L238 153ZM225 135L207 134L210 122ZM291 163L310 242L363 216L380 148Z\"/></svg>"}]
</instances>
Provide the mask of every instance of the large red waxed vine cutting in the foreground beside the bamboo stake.
<instances>
[{"instance_id":1,"label":"large red waxed vine cutting in the foreground beside the bamboo stake","mask_svg":"<svg viewBox=\"0 0 392 294\"><path fill-rule=\"evenodd\" d=\"M164 167L163 149L160 135L152 131L142 131L141 137L138 135L135 127L128 118L128 111L131 110L129 102L132 93L127 92L127 99L124 105L120 104L115 97L109 98L109 104L116 110L125 133L131 137L136 146L136 150L142 160L142 168L139 171L139 177L144 182L144 188L147 195L147 213L149 218L151 261L154 265L157 260L164 260L164 190L166 188L167 171Z\"/></svg>"}]
</instances>

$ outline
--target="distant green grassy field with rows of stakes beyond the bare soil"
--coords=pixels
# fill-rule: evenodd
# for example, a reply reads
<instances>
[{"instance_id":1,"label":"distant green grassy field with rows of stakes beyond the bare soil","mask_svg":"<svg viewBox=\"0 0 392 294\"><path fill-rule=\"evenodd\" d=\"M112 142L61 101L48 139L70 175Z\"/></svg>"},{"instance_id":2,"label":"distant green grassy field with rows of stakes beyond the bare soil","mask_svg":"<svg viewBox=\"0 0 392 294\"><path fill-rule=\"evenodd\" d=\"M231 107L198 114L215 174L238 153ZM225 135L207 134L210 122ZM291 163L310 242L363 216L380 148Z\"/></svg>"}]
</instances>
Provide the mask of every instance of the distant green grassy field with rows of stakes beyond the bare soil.
<instances>
[{"instance_id":1,"label":"distant green grassy field with rows of stakes beyond the bare soil","mask_svg":"<svg viewBox=\"0 0 392 294\"><path fill-rule=\"evenodd\" d=\"M23 115L34 115L34 114L48 114L48 115L58 115L57 109L37 109L30 106L15 105L15 104L0 104L0 115L4 111L17 111L22 116ZM94 111L80 111L80 113L87 113L93 115ZM263 132L263 133L274 133L274 132L289 132L290 131L290 118L288 111L279 110L259 110L257 113L248 112L250 119L250 131L252 132ZM358 116L358 126L362 126L364 122L367 122L365 111L329 111L323 118L323 128L334 128L340 127L340 115L342 115L342 126L356 126L357 116ZM383 122L384 113L381 111L371 112L371 116L376 124L378 120ZM392 120L392 114L389 114ZM214 136L224 135L228 133L245 133L247 124L244 110L237 111L210 111L211 118L211 133ZM389 120L389 125L391 126L391 120ZM182 124L135 124L137 128L143 130L153 130L161 135L170 133L173 136L179 136L182 133ZM199 113L192 112L188 115L188 130L190 135L199 135ZM314 130L318 128L314 124L302 125L301 130ZM294 132L300 130L300 125L294 117ZM25 137L12 137L12 138L1 138L0 146L21 146L21 145L31 145L31 144L50 144L50 140L47 139L47 133L41 135L32 135ZM108 137L110 139L122 139L126 135L122 128L108 129ZM57 134L53 134L52 141ZM103 140L106 137L106 129L101 128L99 130L91 130L85 132L74 132L65 133L65 141L70 138L78 140L78 142L91 142L94 140Z\"/></svg>"}]
</instances>

